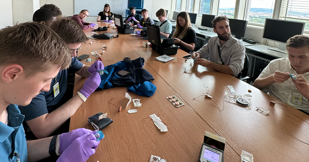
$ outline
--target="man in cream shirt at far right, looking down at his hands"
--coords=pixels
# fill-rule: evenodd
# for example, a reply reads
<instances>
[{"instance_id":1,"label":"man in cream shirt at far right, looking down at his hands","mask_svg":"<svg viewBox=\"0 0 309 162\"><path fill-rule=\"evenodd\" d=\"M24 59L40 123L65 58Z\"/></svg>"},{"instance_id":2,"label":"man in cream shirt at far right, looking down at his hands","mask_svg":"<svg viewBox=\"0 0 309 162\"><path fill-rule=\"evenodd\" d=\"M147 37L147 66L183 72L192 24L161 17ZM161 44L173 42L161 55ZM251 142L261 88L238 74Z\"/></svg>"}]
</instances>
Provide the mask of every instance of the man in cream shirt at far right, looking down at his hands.
<instances>
[{"instance_id":1,"label":"man in cream shirt at far right, looking down at his hands","mask_svg":"<svg viewBox=\"0 0 309 162\"><path fill-rule=\"evenodd\" d=\"M270 61L253 86L267 89L271 96L309 114L309 37L291 37L286 42L286 49L288 58Z\"/></svg>"}]
</instances>

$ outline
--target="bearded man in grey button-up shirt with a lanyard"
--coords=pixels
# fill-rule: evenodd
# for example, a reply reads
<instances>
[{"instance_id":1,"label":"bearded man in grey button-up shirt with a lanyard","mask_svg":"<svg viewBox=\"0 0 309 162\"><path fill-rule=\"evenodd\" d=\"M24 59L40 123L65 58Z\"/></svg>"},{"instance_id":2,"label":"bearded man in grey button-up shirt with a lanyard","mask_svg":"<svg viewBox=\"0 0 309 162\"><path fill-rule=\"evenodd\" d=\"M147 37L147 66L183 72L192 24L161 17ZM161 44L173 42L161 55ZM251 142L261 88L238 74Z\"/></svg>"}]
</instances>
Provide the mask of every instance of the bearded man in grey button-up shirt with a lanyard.
<instances>
[{"instance_id":1,"label":"bearded man in grey button-up shirt with a lanyard","mask_svg":"<svg viewBox=\"0 0 309 162\"><path fill-rule=\"evenodd\" d=\"M226 16L216 17L212 24L218 36L210 38L201 49L193 52L192 58L196 57L196 63L199 65L237 77L243 69L245 47L238 39L232 37ZM205 58L209 58L210 61Z\"/></svg>"}]
</instances>

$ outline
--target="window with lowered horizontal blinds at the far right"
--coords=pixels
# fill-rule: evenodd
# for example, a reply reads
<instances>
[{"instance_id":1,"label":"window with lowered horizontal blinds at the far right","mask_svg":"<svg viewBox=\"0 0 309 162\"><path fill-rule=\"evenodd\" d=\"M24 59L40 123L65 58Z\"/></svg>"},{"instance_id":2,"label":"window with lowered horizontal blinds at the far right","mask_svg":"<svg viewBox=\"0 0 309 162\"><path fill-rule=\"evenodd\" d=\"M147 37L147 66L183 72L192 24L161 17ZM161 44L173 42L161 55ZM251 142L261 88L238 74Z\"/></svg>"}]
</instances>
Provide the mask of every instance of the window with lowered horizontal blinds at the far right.
<instances>
[{"instance_id":1,"label":"window with lowered horizontal blinds at the far right","mask_svg":"<svg viewBox=\"0 0 309 162\"><path fill-rule=\"evenodd\" d=\"M309 30L309 1L282 1L281 15L286 20L305 22L305 29Z\"/></svg>"}]
</instances>

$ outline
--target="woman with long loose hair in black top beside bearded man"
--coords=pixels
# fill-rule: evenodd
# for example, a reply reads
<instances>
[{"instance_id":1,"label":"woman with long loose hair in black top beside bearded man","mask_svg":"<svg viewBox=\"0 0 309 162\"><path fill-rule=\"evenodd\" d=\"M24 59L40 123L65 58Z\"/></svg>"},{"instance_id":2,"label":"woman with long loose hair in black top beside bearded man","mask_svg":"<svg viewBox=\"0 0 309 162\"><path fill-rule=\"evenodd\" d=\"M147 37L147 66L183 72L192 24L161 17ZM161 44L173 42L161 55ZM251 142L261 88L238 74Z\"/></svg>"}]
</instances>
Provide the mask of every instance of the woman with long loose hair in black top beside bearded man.
<instances>
[{"instance_id":1,"label":"woman with long loose hair in black top beside bearded man","mask_svg":"<svg viewBox=\"0 0 309 162\"><path fill-rule=\"evenodd\" d=\"M176 30L172 36L176 45L185 52L193 51L196 44L196 34L191 27L191 20L187 12L177 15Z\"/></svg>"}]
</instances>

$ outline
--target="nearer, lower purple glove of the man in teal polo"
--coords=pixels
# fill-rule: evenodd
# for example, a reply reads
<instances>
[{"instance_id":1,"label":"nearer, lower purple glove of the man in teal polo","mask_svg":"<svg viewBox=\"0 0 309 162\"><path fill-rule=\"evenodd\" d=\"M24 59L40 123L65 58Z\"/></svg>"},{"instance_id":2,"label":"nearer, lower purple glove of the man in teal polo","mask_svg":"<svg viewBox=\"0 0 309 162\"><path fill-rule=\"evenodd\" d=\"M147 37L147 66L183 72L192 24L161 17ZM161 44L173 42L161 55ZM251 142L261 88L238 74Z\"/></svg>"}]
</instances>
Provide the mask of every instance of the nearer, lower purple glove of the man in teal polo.
<instances>
[{"instance_id":1,"label":"nearer, lower purple glove of the man in teal polo","mask_svg":"<svg viewBox=\"0 0 309 162\"><path fill-rule=\"evenodd\" d=\"M64 150L57 162L86 162L91 155L95 154L98 145L99 142L95 140L95 135L84 134Z\"/></svg>"}]
</instances>

